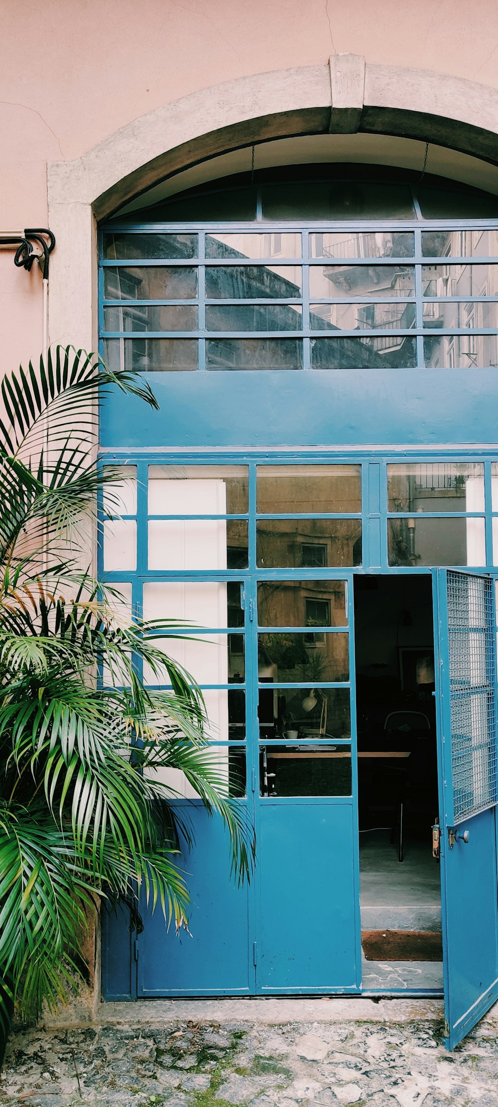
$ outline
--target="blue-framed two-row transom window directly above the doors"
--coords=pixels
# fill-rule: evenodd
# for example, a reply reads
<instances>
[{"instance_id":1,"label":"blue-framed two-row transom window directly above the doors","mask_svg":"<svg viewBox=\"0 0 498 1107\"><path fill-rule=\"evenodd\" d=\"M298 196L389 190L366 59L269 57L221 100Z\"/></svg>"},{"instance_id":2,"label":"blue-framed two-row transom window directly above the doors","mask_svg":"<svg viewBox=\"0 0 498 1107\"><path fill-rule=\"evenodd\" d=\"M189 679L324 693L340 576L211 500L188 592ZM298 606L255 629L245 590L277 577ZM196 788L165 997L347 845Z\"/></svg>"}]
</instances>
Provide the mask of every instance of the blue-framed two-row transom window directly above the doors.
<instances>
[{"instance_id":1,"label":"blue-framed two-row transom window directly above the doors","mask_svg":"<svg viewBox=\"0 0 498 1107\"><path fill-rule=\"evenodd\" d=\"M277 467L268 454L248 457L247 454L217 453L200 458L199 454L181 453L168 454L166 458L164 454L138 456L134 452L131 456L110 451L104 458L122 464L125 475L132 473L132 482L136 473L136 507L132 496L129 503L124 504L126 510L114 511L114 517L110 514L103 524L101 569L113 580L132 582L179 576L194 580L222 576L230 581L242 580L253 572L268 577L290 572L313 579L330 577L341 568L353 572L403 573L424 572L438 565L486 568L498 560L498 463L490 452L466 455L461 451L453 457L440 454L437 458L434 454L405 454L403 459L392 455L382 461L356 454L332 461L331 454L322 451L303 454L298 466L295 455L286 457L282 452L278 455ZM206 484L201 484L200 490L198 487L203 467L211 485L210 503L205 495ZM305 475L309 468L313 482L319 479L317 474L322 473L322 482L332 489L347 482L347 474L357 474L361 500L354 500L350 488L342 511L326 509L341 506L331 501L332 492L324 496L322 504L314 500L304 505L314 510L298 511L295 503L291 501L286 505L287 511L276 513L270 493L262 503L267 510L258 510L258 474L274 473L276 468L283 478L289 473L292 479L297 470ZM172 484L179 473L183 474L183 488L186 488L189 472L195 474L191 483L196 485L195 496L203 497L204 510L199 511L194 500L190 506L184 505L183 509L174 511L172 504L175 506L175 501L169 499L160 514L154 509L148 515L149 470L170 472L174 475ZM219 503L214 506L216 489L212 486L224 486L225 480L232 484L230 474L236 472L247 473L243 477L247 500L240 499L239 483L239 492L229 493L228 504L222 498L221 507L229 510L221 510ZM317 496L318 485L310 487ZM278 494L287 495L282 487ZM222 489L221 495L226 496ZM349 509L351 504L357 509ZM245 509L237 510L238 507ZM191 560L188 549L187 560L184 552L180 558L172 554L170 538L173 536L174 542L178 542L178 527L184 527L187 535L185 549L188 541L196 546L197 560ZM310 530L314 537L318 535L317 544ZM266 546L261 545L261 535ZM211 545L216 540L222 542L222 556L219 551L216 554L218 560L212 560L215 555L206 555L207 539ZM169 549L167 558L162 554L166 547ZM403 556L400 552L393 556L393 550L400 551L402 547ZM314 548L319 551L317 559L310 555ZM134 594L136 601L138 597ZM234 593L228 599L228 610L230 603L234 611ZM226 628L230 633L235 629L234 622Z\"/></svg>"}]
</instances>

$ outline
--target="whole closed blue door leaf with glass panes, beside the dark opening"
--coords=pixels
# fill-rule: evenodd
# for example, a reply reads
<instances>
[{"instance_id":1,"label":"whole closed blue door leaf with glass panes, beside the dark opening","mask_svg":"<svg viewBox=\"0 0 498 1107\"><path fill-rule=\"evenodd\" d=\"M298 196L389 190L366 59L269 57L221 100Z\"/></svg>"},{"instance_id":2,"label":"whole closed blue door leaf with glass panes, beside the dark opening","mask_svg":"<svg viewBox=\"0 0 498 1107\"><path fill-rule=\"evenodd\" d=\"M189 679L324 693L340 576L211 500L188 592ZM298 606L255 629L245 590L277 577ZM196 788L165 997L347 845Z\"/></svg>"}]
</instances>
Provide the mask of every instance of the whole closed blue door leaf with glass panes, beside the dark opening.
<instances>
[{"instance_id":1,"label":"whole closed blue door leaf with glass panes, beside the dark opening","mask_svg":"<svg viewBox=\"0 0 498 1107\"><path fill-rule=\"evenodd\" d=\"M253 586L259 994L361 984L352 577L319 576Z\"/></svg>"}]
</instances>

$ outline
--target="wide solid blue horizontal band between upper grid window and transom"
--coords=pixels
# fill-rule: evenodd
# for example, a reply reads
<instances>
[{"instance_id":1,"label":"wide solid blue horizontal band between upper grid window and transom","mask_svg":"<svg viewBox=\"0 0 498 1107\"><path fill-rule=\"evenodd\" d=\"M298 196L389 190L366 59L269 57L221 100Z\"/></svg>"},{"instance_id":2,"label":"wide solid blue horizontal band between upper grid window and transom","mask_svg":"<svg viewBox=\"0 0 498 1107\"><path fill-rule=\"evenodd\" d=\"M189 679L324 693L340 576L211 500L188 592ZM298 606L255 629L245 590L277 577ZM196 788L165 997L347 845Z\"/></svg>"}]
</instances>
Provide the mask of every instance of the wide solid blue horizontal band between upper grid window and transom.
<instances>
[{"instance_id":1,"label":"wide solid blue horizontal band between upper grid window and transom","mask_svg":"<svg viewBox=\"0 0 498 1107\"><path fill-rule=\"evenodd\" d=\"M498 370L148 373L160 405L110 396L102 445L430 445L496 438Z\"/></svg>"}]
</instances>

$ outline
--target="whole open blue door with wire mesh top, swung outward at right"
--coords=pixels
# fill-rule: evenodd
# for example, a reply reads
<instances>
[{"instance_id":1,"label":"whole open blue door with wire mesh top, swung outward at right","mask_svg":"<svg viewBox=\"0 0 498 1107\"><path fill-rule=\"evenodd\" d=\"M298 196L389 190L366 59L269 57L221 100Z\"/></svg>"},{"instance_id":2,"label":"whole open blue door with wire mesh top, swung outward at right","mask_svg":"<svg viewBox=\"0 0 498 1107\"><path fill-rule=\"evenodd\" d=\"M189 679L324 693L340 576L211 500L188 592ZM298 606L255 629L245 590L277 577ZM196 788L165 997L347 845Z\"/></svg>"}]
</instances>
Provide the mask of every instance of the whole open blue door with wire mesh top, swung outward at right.
<instances>
[{"instance_id":1,"label":"whole open blue door with wire mesh top, swung outward at right","mask_svg":"<svg viewBox=\"0 0 498 1107\"><path fill-rule=\"evenodd\" d=\"M498 999L497 664L491 577L435 571L445 1045Z\"/></svg>"}]
</instances>

